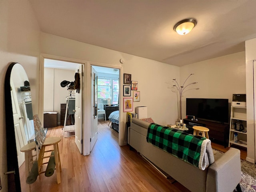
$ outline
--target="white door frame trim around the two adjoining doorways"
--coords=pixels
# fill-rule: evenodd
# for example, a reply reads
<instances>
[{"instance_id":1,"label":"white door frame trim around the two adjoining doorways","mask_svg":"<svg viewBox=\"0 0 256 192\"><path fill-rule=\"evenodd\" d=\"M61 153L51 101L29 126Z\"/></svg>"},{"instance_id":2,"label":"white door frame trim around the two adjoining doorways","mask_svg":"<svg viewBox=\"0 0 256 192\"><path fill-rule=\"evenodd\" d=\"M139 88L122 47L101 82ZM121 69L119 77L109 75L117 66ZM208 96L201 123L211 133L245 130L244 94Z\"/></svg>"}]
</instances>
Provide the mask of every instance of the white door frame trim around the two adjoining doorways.
<instances>
[{"instance_id":1,"label":"white door frame trim around the two adjoining doorways","mask_svg":"<svg viewBox=\"0 0 256 192\"><path fill-rule=\"evenodd\" d=\"M44 103L40 101L44 101L44 59L52 59L52 60L60 60L60 61L66 61L66 62L72 62L72 63L78 63L78 64L83 64L84 65L84 89L83 89L83 94L84 94L84 124L83 124L83 155L89 155L90 154L90 116L91 116L91 111L90 111L90 102L91 102L91 76L90 76L90 66L101 66L101 67L107 67L107 68L115 68L119 70L119 139L118 139L118 144L120 146L125 145L127 142L124 141L124 138L121 137L124 135L124 129L123 126L125 122L123 122L123 100L122 100L122 92L123 92L123 87L122 82L123 82L123 69L122 66L113 66L113 65L108 65L108 64L101 64L101 63L96 63L96 62L88 62L84 60L78 60L74 58L66 58L66 57L61 57L61 56L54 56L50 54L40 54L40 63L39 63L39 98L38 98L38 116L41 119L42 123L44 122ZM89 96L89 97L87 97ZM88 107L87 107L88 106Z\"/></svg>"}]
</instances>

